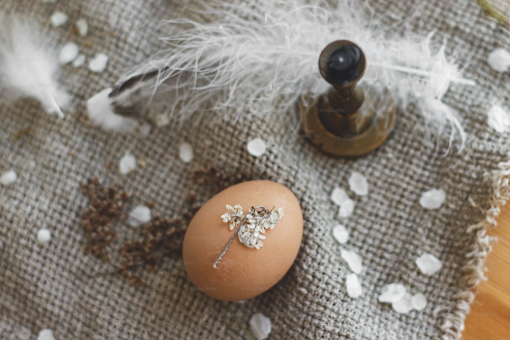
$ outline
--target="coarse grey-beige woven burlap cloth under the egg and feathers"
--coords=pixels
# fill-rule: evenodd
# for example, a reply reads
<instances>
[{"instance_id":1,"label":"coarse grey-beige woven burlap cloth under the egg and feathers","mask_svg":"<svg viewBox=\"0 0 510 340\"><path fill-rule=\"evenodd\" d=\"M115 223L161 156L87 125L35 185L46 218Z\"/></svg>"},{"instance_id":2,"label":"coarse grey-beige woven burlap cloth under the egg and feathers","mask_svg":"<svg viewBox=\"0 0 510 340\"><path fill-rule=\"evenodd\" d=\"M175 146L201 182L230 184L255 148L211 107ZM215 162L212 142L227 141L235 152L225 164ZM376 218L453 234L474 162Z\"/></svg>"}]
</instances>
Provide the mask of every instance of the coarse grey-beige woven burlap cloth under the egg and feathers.
<instances>
[{"instance_id":1,"label":"coarse grey-beige woven burlap cloth under the egg and feathers","mask_svg":"<svg viewBox=\"0 0 510 340\"><path fill-rule=\"evenodd\" d=\"M478 83L452 86L444 99L463 119L468 141L462 153L443 157L445 148L427 145L413 108L398 112L395 132L382 147L350 160L328 158L297 134L289 136L283 124L250 124L249 118L243 125L161 127L152 130L153 138L108 134L87 119L87 98L161 48L156 39L160 20L186 16L188 5L164 0L2 2L2 12L40 22L56 44L73 40L89 60L98 52L110 60L104 73L63 67L62 83L74 96L73 110L63 120L46 115L33 101L0 108L0 172L18 174L15 184L0 188L0 338L35 339L44 328L57 339L241 338L244 333L230 310L245 324L254 312L264 313L272 322L270 339L459 338L490 248L484 230L507 198L509 167L501 162L510 144L506 134L487 125L486 113L493 102L508 103L508 74L491 71L486 60L495 47L510 48L510 37L474 1L371 4L394 20L419 13L416 31L448 38L448 50L467 65L465 77ZM48 25L55 10L69 14L61 28ZM89 24L87 37L72 33L72 23L82 17ZM24 128L30 133L13 137ZM246 152L246 141L254 137L268 142L261 158ZM190 164L176 155L184 141L195 151ZM121 176L108 164L117 164L126 151L146 165ZM137 290L117 275L98 275L111 267L82 251L79 213L87 199L80 182L91 175L105 183L118 181L133 192L133 206L152 201L156 213L174 214L191 190L190 173L209 166L281 182L298 197L304 237L281 282L257 298L229 303L228 309L194 289L180 258L144 274L151 290ZM366 267L360 275L364 294L358 299L345 291L349 269L331 237L340 221L329 200L334 187L346 188L354 170L370 184L369 195L355 198L354 213L345 221L351 233L346 248L358 252ZM431 188L444 189L447 199L439 210L425 211L418 200ZM43 227L53 234L47 246L36 241ZM128 229L119 228L121 234ZM433 276L419 273L414 264L424 252L443 261ZM400 315L378 303L381 287L390 282L425 294L427 307Z\"/></svg>"}]
</instances>

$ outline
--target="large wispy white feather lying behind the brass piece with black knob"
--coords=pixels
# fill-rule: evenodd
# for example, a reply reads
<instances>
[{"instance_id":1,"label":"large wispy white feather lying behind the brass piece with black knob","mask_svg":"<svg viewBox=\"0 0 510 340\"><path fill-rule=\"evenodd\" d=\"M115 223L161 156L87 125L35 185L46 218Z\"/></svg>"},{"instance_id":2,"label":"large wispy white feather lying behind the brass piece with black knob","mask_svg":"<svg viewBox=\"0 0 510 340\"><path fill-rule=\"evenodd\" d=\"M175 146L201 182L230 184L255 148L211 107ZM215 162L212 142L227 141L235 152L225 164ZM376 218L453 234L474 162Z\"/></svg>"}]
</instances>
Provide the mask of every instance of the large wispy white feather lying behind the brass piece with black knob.
<instances>
[{"instance_id":1,"label":"large wispy white feather lying behind the brass piece with black knob","mask_svg":"<svg viewBox=\"0 0 510 340\"><path fill-rule=\"evenodd\" d=\"M131 86L123 93L111 93L109 100L119 101L116 96L120 94L122 101L129 101L143 89L154 102L164 92L168 115L177 120L200 112L206 112L208 120L222 118L227 108L236 110L237 119L243 118L246 108L251 115L281 115L303 94L316 97L327 90L329 85L318 71L319 55L328 43L346 39L358 44L367 57L360 84L380 93L389 90L401 108L416 103L431 130L449 130L450 145L458 138L462 148L461 118L442 98L451 83L470 86L474 82L463 79L454 59L446 56L446 42L434 51L432 33L419 36L385 27L367 3L341 0L336 7L322 0L254 4L202 2L198 14L220 19L166 21L180 28L160 38L168 48L123 77L117 88L126 81ZM133 86L134 77L149 73L152 77ZM89 110L94 108L89 106Z\"/></svg>"}]
</instances>

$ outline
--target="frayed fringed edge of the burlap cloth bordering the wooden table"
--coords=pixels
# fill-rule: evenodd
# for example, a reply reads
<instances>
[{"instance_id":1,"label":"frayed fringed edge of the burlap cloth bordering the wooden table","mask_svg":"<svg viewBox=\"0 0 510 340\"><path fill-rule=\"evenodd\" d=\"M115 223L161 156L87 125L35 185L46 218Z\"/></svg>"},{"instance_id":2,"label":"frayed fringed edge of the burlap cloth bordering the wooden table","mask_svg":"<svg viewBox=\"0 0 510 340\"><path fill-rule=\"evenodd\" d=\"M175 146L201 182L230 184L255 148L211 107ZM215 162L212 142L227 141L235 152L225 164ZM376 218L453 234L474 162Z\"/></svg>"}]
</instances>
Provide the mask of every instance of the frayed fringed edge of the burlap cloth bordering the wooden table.
<instances>
[{"instance_id":1,"label":"frayed fringed edge of the burlap cloth bordering the wooden table","mask_svg":"<svg viewBox=\"0 0 510 340\"><path fill-rule=\"evenodd\" d=\"M501 207L510 199L510 160L500 162L495 170L484 173L483 179L492 184L491 207L482 221L469 225L466 230L475 237L476 243L466 254L466 265L462 268L462 271L468 274L462 278L460 286L466 287L466 290L454 295L455 307L448 312L440 327L442 335L438 338L443 340L461 338L464 321L475 298L474 290L481 281L487 280L484 275L487 270L485 260L491 251L491 244L495 241L487 231L497 225L496 218L501 212Z\"/></svg>"}]
</instances>

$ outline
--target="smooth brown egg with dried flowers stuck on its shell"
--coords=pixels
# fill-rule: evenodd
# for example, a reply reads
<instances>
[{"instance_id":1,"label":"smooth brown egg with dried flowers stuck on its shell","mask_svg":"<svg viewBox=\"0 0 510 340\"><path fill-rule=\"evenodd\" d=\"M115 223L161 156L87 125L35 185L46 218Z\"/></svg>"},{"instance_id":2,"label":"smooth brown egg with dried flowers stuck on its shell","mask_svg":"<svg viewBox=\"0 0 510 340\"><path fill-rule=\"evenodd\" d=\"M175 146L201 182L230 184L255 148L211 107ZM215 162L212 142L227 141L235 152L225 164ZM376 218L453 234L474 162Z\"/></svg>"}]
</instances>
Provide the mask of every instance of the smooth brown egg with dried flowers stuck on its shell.
<instances>
[{"instance_id":1,"label":"smooth brown egg with dried flowers stuck on its shell","mask_svg":"<svg viewBox=\"0 0 510 340\"><path fill-rule=\"evenodd\" d=\"M234 238L221 260L234 230L223 222L225 205L240 204L247 214L252 206L282 207L284 216L264 233L260 249ZM303 235L303 216L296 196L269 180L252 180L227 188L204 204L191 220L183 244L186 271L198 290L225 301L246 300L264 293L287 273L296 258Z\"/></svg>"}]
</instances>

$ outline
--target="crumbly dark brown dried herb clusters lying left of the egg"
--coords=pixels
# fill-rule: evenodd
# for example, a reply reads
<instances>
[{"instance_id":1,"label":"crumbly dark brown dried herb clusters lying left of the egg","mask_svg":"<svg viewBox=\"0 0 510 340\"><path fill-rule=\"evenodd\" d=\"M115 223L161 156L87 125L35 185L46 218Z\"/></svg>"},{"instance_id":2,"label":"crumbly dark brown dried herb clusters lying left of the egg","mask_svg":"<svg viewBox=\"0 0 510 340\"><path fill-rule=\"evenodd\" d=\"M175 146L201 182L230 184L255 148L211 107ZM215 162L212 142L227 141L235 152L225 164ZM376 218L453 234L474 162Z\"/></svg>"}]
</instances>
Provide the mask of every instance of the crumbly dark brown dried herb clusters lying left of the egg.
<instances>
[{"instance_id":1,"label":"crumbly dark brown dried herb clusters lying left of the egg","mask_svg":"<svg viewBox=\"0 0 510 340\"><path fill-rule=\"evenodd\" d=\"M195 171L191 181L197 190L192 190L184 199L189 214L176 218L153 215L149 223L140 227L137 239L119 246L118 259L114 263L116 270L111 274L119 274L136 287L145 285L139 275L140 270L157 271L165 257L181 254L186 227L202 204L221 190L249 179L243 173L228 174L213 167ZM127 216L125 204L131 194L124 192L118 184L102 185L97 177L91 177L82 184L81 191L89 197L88 206L80 213L87 236L84 252L107 261L108 247L118 239L112 222ZM147 206L153 208L154 203L147 203Z\"/></svg>"}]
</instances>

